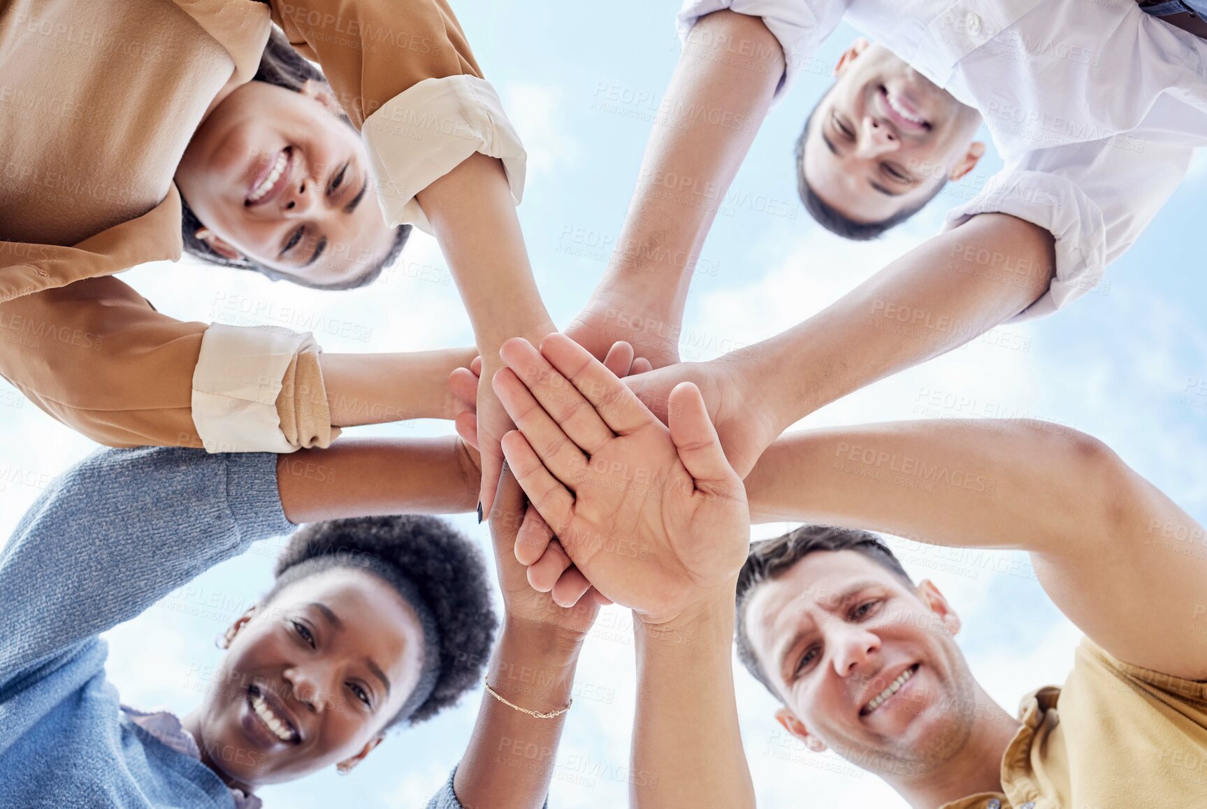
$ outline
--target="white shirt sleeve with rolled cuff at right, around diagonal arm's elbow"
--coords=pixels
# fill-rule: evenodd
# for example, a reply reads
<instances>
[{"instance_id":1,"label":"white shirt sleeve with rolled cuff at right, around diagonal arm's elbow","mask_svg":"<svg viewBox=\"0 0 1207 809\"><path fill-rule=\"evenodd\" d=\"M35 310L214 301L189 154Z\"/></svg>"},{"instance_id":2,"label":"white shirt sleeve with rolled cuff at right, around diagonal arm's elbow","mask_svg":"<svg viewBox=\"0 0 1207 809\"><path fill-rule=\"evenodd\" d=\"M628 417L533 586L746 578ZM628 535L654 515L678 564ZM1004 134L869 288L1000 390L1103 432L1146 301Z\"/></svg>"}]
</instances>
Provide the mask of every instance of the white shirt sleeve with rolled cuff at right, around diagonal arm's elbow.
<instances>
[{"instance_id":1,"label":"white shirt sleeve with rolled cuff at right, around diagonal arm's elbow","mask_svg":"<svg viewBox=\"0 0 1207 809\"><path fill-rule=\"evenodd\" d=\"M950 210L944 229L991 213L1048 229L1056 250L1051 286L1014 320L1050 315L1098 286L1177 188L1191 153L1127 135L1034 150Z\"/></svg>"}]
</instances>

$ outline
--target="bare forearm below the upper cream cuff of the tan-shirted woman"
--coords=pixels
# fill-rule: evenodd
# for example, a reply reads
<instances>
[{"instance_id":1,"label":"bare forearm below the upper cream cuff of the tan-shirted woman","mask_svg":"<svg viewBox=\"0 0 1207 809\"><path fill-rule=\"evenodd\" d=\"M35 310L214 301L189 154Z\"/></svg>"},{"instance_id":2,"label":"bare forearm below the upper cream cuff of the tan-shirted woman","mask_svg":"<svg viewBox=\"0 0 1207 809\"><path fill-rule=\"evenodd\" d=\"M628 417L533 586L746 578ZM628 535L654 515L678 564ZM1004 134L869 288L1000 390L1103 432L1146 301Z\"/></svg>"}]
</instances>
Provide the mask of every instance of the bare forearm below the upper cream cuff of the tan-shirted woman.
<instances>
[{"instance_id":1,"label":"bare forearm below the upper cream cuff of the tan-shirted woman","mask_svg":"<svg viewBox=\"0 0 1207 809\"><path fill-rule=\"evenodd\" d=\"M524 235L500 161L476 152L418 194L473 324L478 347L543 328Z\"/></svg>"}]
</instances>

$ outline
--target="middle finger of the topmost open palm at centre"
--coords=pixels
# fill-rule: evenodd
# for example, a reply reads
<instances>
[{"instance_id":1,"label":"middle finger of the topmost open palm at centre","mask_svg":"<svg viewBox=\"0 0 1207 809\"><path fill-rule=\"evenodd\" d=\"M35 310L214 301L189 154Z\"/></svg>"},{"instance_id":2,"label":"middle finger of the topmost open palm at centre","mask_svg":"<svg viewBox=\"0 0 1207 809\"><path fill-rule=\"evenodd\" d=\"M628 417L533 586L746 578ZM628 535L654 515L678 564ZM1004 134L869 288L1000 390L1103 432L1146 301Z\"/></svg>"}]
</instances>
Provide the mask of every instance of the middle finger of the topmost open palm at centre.
<instances>
[{"instance_id":1,"label":"middle finger of the topmost open palm at centre","mask_svg":"<svg viewBox=\"0 0 1207 809\"><path fill-rule=\"evenodd\" d=\"M577 345L577 343L575 344ZM625 345L628 344L625 343ZM617 349L614 345L612 348L617 354L608 351L608 356L613 359L613 362L619 363L619 360L624 359L624 349ZM585 349L583 350L585 351ZM631 351L630 348L630 356ZM531 394L531 398L540 403L544 412L560 425L561 431L583 452L596 453L614 437L595 408L526 339L507 341L500 349L498 356L523 382L523 385ZM593 357L593 362L599 361ZM512 414L513 419L515 417L517 414Z\"/></svg>"}]
</instances>

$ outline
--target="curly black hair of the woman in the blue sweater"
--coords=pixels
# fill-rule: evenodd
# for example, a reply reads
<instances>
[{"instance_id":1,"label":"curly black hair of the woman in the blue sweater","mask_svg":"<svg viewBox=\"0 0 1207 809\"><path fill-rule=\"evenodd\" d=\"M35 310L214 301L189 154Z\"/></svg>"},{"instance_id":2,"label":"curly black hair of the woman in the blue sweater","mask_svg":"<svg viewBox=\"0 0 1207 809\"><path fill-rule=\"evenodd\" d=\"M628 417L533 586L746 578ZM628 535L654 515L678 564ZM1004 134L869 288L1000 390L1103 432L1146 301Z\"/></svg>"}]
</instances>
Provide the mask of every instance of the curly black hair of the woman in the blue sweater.
<instances>
[{"instance_id":1,"label":"curly black hair of the woman in the blue sweater","mask_svg":"<svg viewBox=\"0 0 1207 809\"><path fill-rule=\"evenodd\" d=\"M431 718L480 682L498 619L482 552L471 540L442 519L414 514L313 523L290 537L262 604L285 586L332 568L377 575L415 606L413 587L435 618L441 647L435 687L413 711L404 705L386 728Z\"/></svg>"}]
</instances>

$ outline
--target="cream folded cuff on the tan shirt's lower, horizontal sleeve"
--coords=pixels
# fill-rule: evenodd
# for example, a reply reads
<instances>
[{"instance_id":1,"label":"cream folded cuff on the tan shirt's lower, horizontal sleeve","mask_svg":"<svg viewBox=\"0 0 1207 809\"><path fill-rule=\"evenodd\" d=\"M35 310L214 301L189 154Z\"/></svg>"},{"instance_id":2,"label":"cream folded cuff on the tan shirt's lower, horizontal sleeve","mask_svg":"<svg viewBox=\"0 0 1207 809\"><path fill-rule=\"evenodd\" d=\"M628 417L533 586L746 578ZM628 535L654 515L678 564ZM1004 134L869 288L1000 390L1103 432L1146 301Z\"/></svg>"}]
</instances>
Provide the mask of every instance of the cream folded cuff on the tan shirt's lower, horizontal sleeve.
<instances>
[{"instance_id":1,"label":"cream folded cuff on the tan shirt's lower, horizontal sleeve","mask_svg":"<svg viewBox=\"0 0 1207 809\"><path fill-rule=\"evenodd\" d=\"M214 324L193 371L193 424L209 453L292 453L276 397L299 351L321 350L310 332Z\"/></svg>"}]
</instances>

